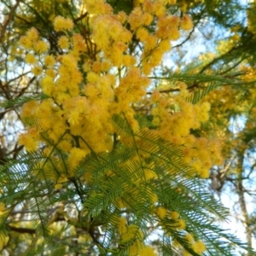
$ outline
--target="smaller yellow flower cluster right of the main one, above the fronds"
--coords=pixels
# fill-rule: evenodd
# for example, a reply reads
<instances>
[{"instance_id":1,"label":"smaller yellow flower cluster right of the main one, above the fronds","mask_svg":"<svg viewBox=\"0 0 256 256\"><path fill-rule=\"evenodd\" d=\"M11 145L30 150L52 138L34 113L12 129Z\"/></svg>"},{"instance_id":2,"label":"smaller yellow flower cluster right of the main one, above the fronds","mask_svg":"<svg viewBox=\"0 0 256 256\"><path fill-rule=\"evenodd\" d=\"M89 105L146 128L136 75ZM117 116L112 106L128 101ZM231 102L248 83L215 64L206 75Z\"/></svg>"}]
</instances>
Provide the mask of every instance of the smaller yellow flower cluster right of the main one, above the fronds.
<instances>
[{"instance_id":1,"label":"smaller yellow flower cluster right of the main one, above the fronds","mask_svg":"<svg viewBox=\"0 0 256 256\"><path fill-rule=\"evenodd\" d=\"M212 165L222 163L220 144L215 139L195 137L190 131L198 129L209 118L210 104L201 102L193 105L185 100L189 92L180 84L181 93L177 96L160 95L155 91L151 96L154 102L153 123L159 127L155 134L171 143L183 147L184 160L193 166L197 174L209 177ZM170 170L172 172L172 170Z\"/></svg>"}]
</instances>

